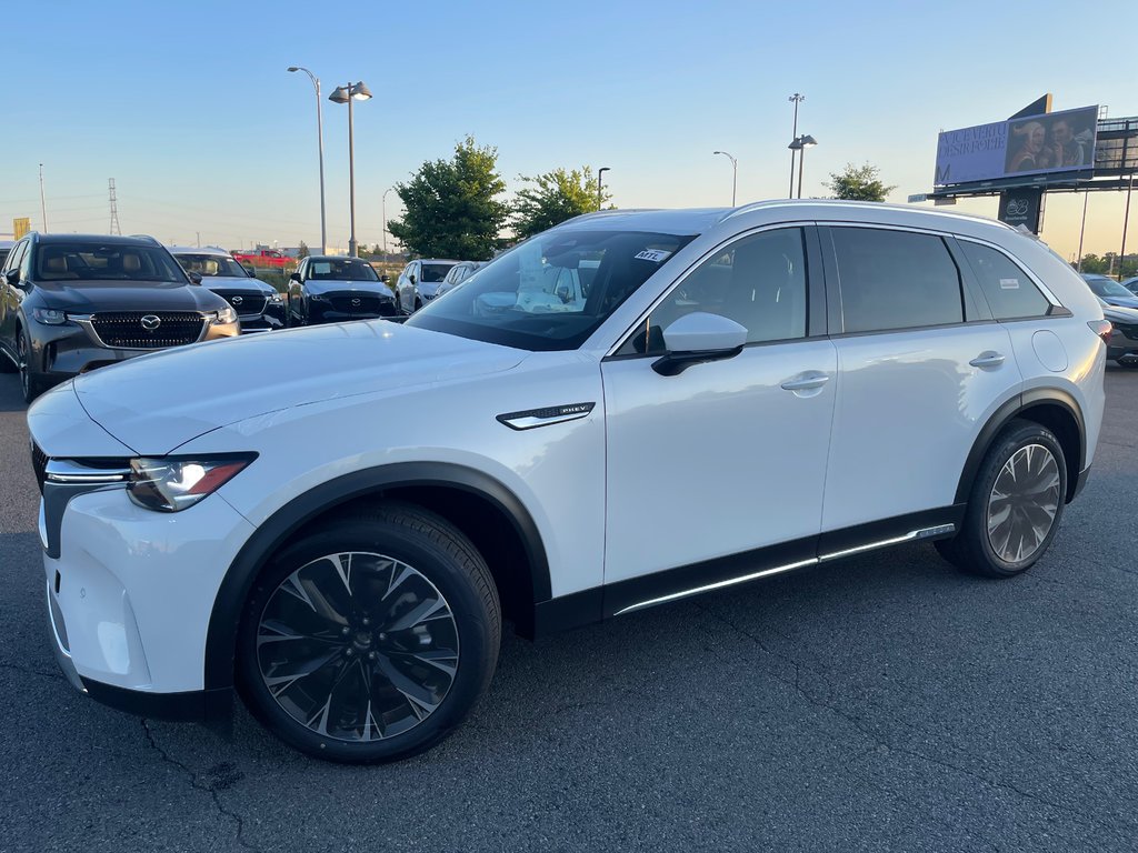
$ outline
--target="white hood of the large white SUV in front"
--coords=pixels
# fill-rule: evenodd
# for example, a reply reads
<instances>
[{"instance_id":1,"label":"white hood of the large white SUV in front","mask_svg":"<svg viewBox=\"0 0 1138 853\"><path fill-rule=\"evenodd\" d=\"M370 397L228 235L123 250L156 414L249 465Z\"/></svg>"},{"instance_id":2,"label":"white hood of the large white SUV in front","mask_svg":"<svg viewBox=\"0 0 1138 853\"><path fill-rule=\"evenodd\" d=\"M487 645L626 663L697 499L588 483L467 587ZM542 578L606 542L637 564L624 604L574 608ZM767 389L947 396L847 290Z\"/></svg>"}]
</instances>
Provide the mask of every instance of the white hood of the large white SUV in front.
<instances>
[{"instance_id":1,"label":"white hood of the large white SUV in front","mask_svg":"<svg viewBox=\"0 0 1138 853\"><path fill-rule=\"evenodd\" d=\"M74 381L83 408L135 453L311 403L509 370L518 349L386 321L246 336L154 353Z\"/></svg>"}]
</instances>

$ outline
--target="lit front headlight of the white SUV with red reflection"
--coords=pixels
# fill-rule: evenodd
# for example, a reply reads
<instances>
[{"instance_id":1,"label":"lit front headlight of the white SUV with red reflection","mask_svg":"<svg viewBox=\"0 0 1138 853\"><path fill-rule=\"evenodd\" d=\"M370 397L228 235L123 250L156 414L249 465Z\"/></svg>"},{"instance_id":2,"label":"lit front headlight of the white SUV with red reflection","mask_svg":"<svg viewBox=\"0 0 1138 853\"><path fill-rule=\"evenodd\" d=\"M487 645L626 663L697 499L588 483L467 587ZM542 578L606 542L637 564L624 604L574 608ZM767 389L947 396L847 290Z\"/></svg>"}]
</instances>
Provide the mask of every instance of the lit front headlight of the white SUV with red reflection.
<instances>
[{"instance_id":1,"label":"lit front headlight of the white SUV with red reflection","mask_svg":"<svg viewBox=\"0 0 1138 853\"><path fill-rule=\"evenodd\" d=\"M215 492L255 458L256 454L228 454L131 459L126 494L147 510L176 513Z\"/></svg>"}]
</instances>

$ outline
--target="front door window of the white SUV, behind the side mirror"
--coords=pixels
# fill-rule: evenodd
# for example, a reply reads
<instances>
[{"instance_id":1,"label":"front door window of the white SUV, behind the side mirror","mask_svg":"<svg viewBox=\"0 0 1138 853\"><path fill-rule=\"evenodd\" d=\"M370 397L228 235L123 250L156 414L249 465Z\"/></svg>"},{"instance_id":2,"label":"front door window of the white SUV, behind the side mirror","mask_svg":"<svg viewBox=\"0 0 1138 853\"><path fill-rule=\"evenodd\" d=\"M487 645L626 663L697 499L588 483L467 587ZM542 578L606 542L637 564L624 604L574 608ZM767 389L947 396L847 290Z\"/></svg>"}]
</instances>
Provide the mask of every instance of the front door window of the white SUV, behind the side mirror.
<instances>
[{"instance_id":1,"label":"front door window of the white SUV, behind the side mirror","mask_svg":"<svg viewBox=\"0 0 1138 853\"><path fill-rule=\"evenodd\" d=\"M663 332L685 314L720 314L747 342L806 337L806 251L801 229L747 237L704 260L652 312L621 355L663 353Z\"/></svg>"}]
</instances>

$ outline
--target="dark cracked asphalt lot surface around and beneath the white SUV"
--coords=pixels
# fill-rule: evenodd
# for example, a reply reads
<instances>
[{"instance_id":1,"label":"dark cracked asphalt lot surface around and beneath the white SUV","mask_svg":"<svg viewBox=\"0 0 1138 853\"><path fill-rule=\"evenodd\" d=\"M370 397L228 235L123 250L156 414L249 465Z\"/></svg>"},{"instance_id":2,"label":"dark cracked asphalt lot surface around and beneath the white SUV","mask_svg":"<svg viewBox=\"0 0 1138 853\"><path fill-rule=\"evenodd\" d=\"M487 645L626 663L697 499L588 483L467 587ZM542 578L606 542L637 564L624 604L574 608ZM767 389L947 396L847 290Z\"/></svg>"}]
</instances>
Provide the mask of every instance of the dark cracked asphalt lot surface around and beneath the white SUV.
<instances>
[{"instance_id":1,"label":"dark cracked asphalt lot surface around and beneath the white SUV","mask_svg":"<svg viewBox=\"0 0 1138 853\"><path fill-rule=\"evenodd\" d=\"M1028 574L931 546L530 644L427 755L344 768L77 695L46 639L38 494L0 376L2 851L1132 851L1138 372Z\"/></svg>"}]
</instances>

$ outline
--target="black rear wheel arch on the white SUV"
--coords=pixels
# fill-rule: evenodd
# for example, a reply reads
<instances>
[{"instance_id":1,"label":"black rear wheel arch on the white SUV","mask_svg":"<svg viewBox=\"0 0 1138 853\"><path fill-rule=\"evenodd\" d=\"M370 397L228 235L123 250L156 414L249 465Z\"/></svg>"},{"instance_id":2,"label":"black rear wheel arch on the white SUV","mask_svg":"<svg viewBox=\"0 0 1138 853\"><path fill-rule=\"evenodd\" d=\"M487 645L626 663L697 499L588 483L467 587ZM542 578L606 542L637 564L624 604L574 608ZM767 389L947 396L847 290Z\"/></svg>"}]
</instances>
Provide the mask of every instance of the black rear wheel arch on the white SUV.
<instances>
[{"instance_id":1,"label":"black rear wheel arch on the white SUV","mask_svg":"<svg viewBox=\"0 0 1138 853\"><path fill-rule=\"evenodd\" d=\"M1066 502L1074 498L1079 474L1087 467L1087 428L1082 407L1074 396L1061 388L1037 388L1006 400L984 423L960 472L956 487L957 504L967 503L980 463L1000 431L1015 419L1033 421L1055 433L1066 458Z\"/></svg>"}]
</instances>

